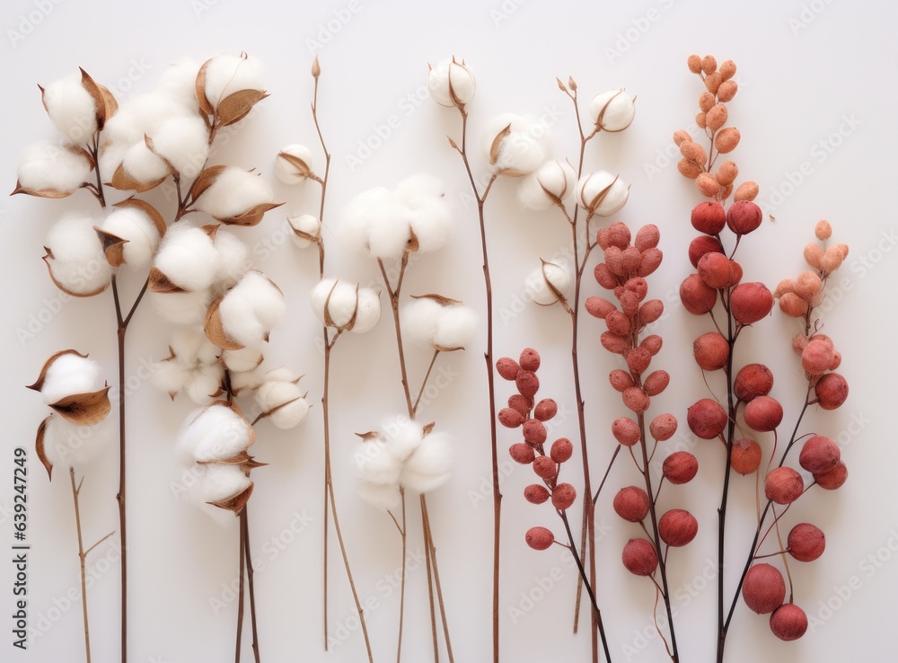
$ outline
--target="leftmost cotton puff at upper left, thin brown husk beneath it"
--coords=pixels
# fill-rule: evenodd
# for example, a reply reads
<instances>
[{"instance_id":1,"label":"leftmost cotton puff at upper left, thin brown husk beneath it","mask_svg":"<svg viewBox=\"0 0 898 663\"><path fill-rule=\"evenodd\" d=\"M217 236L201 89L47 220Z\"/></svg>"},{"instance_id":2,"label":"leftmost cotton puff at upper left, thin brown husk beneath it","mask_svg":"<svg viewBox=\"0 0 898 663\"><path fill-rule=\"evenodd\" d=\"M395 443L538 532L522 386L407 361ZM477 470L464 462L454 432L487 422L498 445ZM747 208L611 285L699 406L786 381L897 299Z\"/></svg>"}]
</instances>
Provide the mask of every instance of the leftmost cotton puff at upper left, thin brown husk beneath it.
<instances>
[{"instance_id":1,"label":"leftmost cotton puff at upper left, thin brown husk beneath it","mask_svg":"<svg viewBox=\"0 0 898 663\"><path fill-rule=\"evenodd\" d=\"M22 189L71 193L91 174L84 152L42 140L22 150L16 175Z\"/></svg>"}]
</instances>

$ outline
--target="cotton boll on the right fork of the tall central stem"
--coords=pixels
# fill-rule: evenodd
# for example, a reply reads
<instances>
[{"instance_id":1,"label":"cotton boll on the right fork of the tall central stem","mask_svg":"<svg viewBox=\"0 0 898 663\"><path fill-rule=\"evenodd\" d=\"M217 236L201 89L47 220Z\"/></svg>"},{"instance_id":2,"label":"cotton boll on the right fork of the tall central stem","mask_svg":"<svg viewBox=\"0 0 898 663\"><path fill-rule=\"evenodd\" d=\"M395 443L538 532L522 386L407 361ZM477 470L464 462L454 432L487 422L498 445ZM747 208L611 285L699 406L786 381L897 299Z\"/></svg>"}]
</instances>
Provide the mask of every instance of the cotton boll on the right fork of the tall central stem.
<instances>
[{"instance_id":1,"label":"cotton boll on the right fork of the tall central stem","mask_svg":"<svg viewBox=\"0 0 898 663\"><path fill-rule=\"evenodd\" d=\"M496 138L506 129L510 133L498 143L497 154L490 154ZM549 130L540 119L503 113L489 122L486 153L499 174L517 177L535 171L546 160Z\"/></svg>"}]
</instances>

